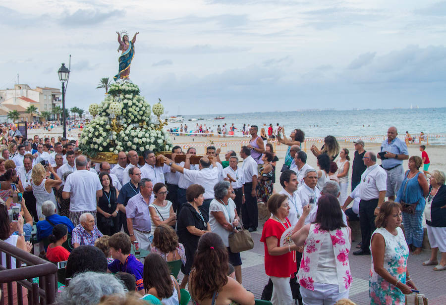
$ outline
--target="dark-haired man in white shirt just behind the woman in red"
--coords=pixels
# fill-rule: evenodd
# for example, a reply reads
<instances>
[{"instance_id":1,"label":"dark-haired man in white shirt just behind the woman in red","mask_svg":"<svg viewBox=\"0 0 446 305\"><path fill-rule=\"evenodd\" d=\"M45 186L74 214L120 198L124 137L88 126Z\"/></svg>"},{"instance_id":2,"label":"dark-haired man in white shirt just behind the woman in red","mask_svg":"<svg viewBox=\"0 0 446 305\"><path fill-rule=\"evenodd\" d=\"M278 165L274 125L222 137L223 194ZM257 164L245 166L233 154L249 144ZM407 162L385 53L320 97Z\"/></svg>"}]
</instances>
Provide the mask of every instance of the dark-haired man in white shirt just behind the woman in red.
<instances>
[{"instance_id":1,"label":"dark-haired man in white shirt just behind the woman in red","mask_svg":"<svg viewBox=\"0 0 446 305\"><path fill-rule=\"evenodd\" d=\"M288 197L288 220L291 223L291 226L295 226L303 212L302 203L296 192L298 186L296 173L290 169L284 170L280 174L280 185L283 187L283 190L281 190L279 194Z\"/></svg>"}]
</instances>

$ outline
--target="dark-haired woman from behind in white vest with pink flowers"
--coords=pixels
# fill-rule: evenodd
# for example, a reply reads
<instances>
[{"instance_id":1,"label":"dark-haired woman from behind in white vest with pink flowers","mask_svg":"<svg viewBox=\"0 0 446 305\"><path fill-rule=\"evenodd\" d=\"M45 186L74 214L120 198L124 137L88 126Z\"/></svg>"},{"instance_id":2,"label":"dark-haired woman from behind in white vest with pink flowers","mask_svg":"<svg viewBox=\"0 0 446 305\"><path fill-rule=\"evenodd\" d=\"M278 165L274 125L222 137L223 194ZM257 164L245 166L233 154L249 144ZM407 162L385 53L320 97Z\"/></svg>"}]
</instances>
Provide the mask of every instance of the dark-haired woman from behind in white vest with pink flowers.
<instances>
[{"instance_id":1,"label":"dark-haired woman from behind in white vest with pink flowers","mask_svg":"<svg viewBox=\"0 0 446 305\"><path fill-rule=\"evenodd\" d=\"M292 239L304 246L297 280L303 304L335 304L348 298L351 285L348 253L351 230L342 220L335 196L324 195L318 201L316 219L302 227L309 207L296 224ZM300 229L299 229L300 228Z\"/></svg>"}]
</instances>

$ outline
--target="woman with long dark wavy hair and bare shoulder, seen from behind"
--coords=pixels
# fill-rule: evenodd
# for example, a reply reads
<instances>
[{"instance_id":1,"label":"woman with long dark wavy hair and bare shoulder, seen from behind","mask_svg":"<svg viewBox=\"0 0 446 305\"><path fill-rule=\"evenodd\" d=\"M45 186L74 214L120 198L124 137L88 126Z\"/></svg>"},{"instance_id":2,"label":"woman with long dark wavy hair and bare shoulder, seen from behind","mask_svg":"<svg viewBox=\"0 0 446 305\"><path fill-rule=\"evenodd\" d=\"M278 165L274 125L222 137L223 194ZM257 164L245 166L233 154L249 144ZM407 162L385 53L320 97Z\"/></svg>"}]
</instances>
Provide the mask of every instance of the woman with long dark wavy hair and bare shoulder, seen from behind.
<instances>
[{"instance_id":1,"label":"woman with long dark wavy hair and bare shoulder, seen from behind","mask_svg":"<svg viewBox=\"0 0 446 305\"><path fill-rule=\"evenodd\" d=\"M226 247L220 236L204 234L198 242L196 259L190 272L192 304L254 305L254 295L227 276L227 261Z\"/></svg>"}]
</instances>

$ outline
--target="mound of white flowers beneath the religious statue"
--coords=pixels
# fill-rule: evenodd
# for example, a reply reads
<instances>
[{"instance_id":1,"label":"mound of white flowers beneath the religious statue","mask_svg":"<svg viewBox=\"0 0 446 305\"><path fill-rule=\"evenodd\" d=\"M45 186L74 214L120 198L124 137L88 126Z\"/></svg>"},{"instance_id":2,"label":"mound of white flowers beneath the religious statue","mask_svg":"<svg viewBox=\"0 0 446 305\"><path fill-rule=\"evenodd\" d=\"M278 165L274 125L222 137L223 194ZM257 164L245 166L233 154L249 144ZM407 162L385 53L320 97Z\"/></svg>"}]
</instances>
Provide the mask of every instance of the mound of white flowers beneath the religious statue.
<instances>
[{"instance_id":1,"label":"mound of white flowers beneath the religious statue","mask_svg":"<svg viewBox=\"0 0 446 305\"><path fill-rule=\"evenodd\" d=\"M100 152L119 153L130 150L168 151L172 147L169 133L157 130L151 122L150 104L139 95L139 88L129 81L112 84L101 104L91 104L89 111L96 117L84 128L79 147L82 153L95 157ZM155 115L163 114L164 106L153 107ZM113 113L121 130L111 129ZM117 132L116 132L117 131Z\"/></svg>"}]
</instances>

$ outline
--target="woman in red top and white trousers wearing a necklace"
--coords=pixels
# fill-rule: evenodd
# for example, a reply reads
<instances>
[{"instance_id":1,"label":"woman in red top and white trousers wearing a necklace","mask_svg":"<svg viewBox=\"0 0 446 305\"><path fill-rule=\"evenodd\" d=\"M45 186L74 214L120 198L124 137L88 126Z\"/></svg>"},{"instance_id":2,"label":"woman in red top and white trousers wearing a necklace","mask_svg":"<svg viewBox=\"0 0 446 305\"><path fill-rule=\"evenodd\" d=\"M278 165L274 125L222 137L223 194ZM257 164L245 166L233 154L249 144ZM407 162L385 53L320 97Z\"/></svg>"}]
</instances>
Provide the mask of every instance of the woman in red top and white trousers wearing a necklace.
<instances>
[{"instance_id":1,"label":"woman in red top and white trousers wearing a necklace","mask_svg":"<svg viewBox=\"0 0 446 305\"><path fill-rule=\"evenodd\" d=\"M289 278L296 272L296 262L293 260L295 245L280 246L280 238L286 229L291 227L287 216L289 214L288 196L275 194L267 203L271 217L265 222L260 241L265 244L265 272L273 282L271 303L274 305L291 304L293 301Z\"/></svg>"}]
</instances>

